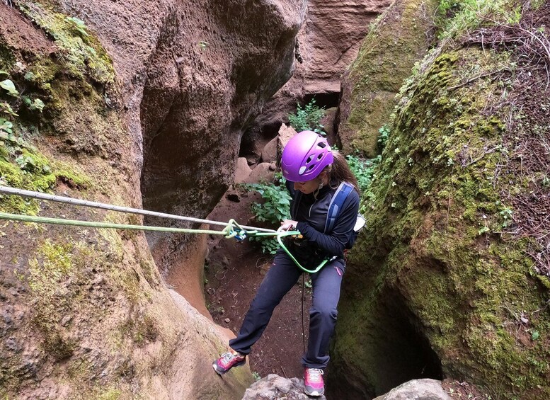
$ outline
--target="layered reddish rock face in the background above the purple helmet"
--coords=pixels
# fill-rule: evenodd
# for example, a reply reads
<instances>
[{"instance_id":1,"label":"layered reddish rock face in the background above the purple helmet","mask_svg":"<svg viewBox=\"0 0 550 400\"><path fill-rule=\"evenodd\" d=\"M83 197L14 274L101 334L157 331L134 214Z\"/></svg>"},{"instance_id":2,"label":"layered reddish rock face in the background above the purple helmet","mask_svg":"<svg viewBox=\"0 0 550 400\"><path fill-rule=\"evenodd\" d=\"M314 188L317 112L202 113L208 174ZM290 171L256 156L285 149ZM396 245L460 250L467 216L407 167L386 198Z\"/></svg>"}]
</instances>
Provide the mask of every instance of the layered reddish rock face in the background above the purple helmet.
<instances>
[{"instance_id":1,"label":"layered reddish rock face in the background above the purple helmet","mask_svg":"<svg viewBox=\"0 0 550 400\"><path fill-rule=\"evenodd\" d=\"M300 30L297 64L290 81L266 103L262 114L244 137L243 152L257 154L257 143L277 135L287 115L296 110L296 101L309 101L319 95L318 104L336 106L340 93L340 75L357 56L361 40L391 0L311 0L306 23Z\"/></svg>"}]
</instances>

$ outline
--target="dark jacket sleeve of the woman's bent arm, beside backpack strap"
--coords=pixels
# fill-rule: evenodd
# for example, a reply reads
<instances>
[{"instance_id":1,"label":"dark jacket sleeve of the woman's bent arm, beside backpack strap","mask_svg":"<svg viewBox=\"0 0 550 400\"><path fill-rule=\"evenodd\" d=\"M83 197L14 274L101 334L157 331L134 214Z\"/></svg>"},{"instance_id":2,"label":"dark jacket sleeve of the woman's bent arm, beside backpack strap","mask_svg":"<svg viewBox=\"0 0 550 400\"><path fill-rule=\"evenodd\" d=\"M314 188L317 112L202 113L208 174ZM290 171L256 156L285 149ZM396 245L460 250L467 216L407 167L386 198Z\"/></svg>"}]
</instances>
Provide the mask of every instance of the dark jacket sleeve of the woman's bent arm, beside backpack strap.
<instances>
[{"instance_id":1,"label":"dark jacket sleeve of the woman's bent arm, beside backpack strap","mask_svg":"<svg viewBox=\"0 0 550 400\"><path fill-rule=\"evenodd\" d=\"M331 234L323 234L307 222L298 222L297 229L304 236L304 239L313 242L323 251L326 251L328 256L340 256L353 234L357 212L359 212L359 195L357 191L353 190L345 199Z\"/></svg>"}]
</instances>

